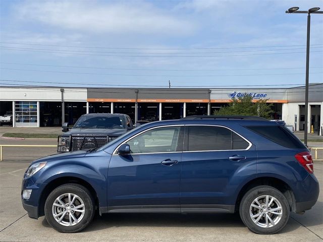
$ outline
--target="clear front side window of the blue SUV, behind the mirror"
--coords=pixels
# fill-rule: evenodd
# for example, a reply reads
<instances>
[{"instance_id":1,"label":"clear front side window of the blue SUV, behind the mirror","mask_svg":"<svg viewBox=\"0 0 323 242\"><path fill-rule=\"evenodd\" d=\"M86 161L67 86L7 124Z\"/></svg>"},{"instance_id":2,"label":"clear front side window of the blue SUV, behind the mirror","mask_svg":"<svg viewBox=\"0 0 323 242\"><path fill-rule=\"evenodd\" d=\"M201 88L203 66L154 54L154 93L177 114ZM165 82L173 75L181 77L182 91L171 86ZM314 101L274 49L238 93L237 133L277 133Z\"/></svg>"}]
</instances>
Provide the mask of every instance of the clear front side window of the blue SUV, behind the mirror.
<instances>
[{"instance_id":1,"label":"clear front side window of the blue SUV, behind the mirror","mask_svg":"<svg viewBox=\"0 0 323 242\"><path fill-rule=\"evenodd\" d=\"M175 152L181 149L181 127L165 127L149 130L127 142L131 153Z\"/></svg>"}]
</instances>

